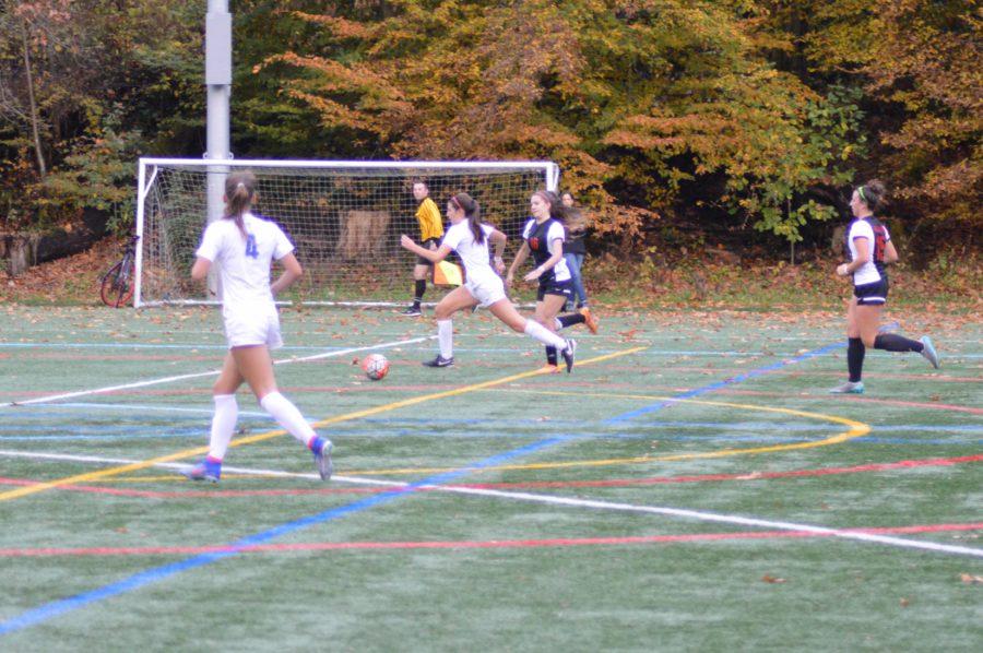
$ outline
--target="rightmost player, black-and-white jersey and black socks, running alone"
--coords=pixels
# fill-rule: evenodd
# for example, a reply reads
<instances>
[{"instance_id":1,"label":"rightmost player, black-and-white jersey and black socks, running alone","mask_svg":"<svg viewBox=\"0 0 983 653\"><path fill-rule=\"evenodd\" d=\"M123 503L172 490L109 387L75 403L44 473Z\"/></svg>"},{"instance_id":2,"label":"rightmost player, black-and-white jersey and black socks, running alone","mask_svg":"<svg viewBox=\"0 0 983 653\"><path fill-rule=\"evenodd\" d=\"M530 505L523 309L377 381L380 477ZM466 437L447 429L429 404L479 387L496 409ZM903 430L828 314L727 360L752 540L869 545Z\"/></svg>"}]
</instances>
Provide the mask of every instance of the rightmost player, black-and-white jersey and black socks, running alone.
<instances>
[{"instance_id":1,"label":"rightmost player, black-and-white jersey and black socks, running alone","mask_svg":"<svg viewBox=\"0 0 983 653\"><path fill-rule=\"evenodd\" d=\"M850 210L854 215L846 229L850 262L837 268L837 274L853 278L853 297L846 308L846 368L850 379L830 390L833 393L863 393L862 375L867 347L917 352L938 368L938 354L927 335L915 341L897 333L877 332L888 294L885 265L898 260L898 251L887 227L874 217L874 211L884 203L885 188L877 180L858 187L850 199Z\"/></svg>"}]
</instances>

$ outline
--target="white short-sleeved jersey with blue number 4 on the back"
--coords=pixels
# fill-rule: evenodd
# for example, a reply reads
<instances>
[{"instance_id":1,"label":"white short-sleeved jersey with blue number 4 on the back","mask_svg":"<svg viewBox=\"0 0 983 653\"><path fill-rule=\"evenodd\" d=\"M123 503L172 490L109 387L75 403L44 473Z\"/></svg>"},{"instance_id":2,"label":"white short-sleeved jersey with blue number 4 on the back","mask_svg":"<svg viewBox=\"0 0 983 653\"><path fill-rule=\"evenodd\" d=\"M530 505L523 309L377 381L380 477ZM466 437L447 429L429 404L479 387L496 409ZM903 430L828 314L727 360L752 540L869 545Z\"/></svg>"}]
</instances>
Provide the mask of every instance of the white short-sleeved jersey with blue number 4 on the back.
<instances>
[{"instance_id":1,"label":"white short-sleeved jersey with blue number 4 on the back","mask_svg":"<svg viewBox=\"0 0 983 653\"><path fill-rule=\"evenodd\" d=\"M222 307L246 309L273 305L270 264L294 251L294 246L276 224L252 213L242 214L246 236L233 218L222 218L205 228L196 252L218 265Z\"/></svg>"}]
</instances>

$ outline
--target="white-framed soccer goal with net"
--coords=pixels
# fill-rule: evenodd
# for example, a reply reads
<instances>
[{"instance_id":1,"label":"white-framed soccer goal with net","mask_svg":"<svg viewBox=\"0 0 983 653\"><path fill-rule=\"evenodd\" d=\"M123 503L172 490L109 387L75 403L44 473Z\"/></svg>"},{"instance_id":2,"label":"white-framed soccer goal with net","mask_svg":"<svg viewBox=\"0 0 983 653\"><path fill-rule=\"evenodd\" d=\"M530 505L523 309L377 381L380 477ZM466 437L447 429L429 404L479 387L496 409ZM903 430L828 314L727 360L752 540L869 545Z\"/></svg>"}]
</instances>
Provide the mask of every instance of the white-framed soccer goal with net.
<instances>
[{"instance_id":1,"label":"white-framed soccer goal with net","mask_svg":"<svg viewBox=\"0 0 983 653\"><path fill-rule=\"evenodd\" d=\"M441 213L451 194L470 193L483 219L509 236L511 251L530 195L556 190L559 180L559 168L549 162L141 158L134 306L217 300L191 281L190 269L208 223L209 195L214 214L226 175L244 169L257 177L253 211L280 224L304 265L304 278L287 299L323 305L411 298L416 257L400 247L400 234L419 238L414 179L427 182Z\"/></svg>"}]
</instances>

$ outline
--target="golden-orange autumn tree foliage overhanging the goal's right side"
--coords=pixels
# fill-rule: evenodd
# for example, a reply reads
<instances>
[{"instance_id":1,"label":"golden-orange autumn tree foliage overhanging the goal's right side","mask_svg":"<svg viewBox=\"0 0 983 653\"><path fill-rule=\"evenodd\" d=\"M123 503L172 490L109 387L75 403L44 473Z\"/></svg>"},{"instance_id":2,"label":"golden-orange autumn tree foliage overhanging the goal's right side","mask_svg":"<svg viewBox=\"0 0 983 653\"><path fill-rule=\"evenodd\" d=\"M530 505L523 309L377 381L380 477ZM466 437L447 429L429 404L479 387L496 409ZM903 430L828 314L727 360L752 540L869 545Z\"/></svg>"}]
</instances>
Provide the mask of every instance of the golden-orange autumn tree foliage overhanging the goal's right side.
<instances>
[{"instance_id":1,"label":"golden-orange autumn tree foliage overhanging the goal's right side","mask_svg":"<svg viewBox=\"0 0 983 653\"><path fill-rule=\"evenodd\" d=\"M392 156L554 158L629 236L723 173L721 207L794 241L832 213L809 189L849 176L852 98L777 71L733 3L381 4L294 11L320 40L258 70L295 67L284 96Z\"/></svg>"}]
</instances>

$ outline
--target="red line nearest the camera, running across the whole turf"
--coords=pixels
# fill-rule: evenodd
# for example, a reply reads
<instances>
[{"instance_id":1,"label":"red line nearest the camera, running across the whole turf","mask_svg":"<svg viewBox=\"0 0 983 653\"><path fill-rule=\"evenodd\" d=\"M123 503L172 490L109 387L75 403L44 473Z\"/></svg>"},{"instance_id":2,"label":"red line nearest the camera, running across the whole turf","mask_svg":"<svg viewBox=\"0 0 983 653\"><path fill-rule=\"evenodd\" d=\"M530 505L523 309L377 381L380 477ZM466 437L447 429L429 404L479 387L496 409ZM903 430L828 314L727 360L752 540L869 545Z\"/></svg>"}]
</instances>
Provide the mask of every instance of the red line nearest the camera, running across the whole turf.
<instances>
[{"instance_id":1,"label":"red line nearest the camera, running across the whole turf","mask_svg":"<svg viewBox=\"0 0 983 653\"><path fill-rule=\"evenodd\" d=\"M898 535L912 533L943 533L983 530L983 522L968 524L923 524L885 529L841 529L840 533ZM638 544L678 544L688 542L720 542L727 539L781 539L787 537L830 537L832 533L812 531L739 531L735 533L690 533L685 535L650 535L639 537L557 537L550 539L490 539L455 542L308 542L259 544L251 546L133 546L133 547L43 547L0 548L0 558L56 557L56 556L168 556L212 553L273 553L273 551L327 551L327 550L380 550L380 549L474 549L474 548L534 548L562 546L617 546Z\"/></svg>"}]
</instances>

